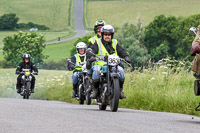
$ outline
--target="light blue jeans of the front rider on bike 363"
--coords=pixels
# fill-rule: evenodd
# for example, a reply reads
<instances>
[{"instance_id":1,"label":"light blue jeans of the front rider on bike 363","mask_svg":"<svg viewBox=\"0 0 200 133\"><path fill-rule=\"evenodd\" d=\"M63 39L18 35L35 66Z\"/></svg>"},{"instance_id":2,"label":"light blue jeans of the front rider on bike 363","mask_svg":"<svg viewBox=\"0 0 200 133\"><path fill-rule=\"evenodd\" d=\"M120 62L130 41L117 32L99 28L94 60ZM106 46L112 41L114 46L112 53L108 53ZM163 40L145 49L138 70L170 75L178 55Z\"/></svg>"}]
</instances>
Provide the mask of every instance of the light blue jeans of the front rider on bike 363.
<instances>
[{"instance_id":1,"label":"light blue jeans of the front rider on bike 363","mask_svg":"<svg viewBox=\"0 0 200 133\"><path fill-rule=\"evenodd\" d=\"M101 70L101 66L99 65L94 65L92 66L92 80L98 81L100 79L99 73ZM124 80L124 69L120 66L118 66L118 72L120 73L120 79Z\"/></svg>"}]
</instances>

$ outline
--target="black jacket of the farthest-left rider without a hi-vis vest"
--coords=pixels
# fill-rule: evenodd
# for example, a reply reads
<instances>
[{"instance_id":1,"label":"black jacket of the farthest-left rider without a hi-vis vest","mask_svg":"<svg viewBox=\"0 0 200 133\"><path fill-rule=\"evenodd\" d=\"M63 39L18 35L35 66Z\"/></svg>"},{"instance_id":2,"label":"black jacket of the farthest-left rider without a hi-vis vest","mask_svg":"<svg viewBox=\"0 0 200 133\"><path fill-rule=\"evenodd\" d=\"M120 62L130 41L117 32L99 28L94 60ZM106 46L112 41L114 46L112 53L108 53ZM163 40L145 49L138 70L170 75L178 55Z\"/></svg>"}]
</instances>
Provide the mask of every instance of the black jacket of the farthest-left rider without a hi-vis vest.
<instances>
[{"instance_id":1,"label":"black jacket of the farthest-left rider without a hi-vis vest","mask_svg":"<svg viewBox=\"0 0 200 133\"><path fill-rule=\"evenodd\" d=\"M22 72L22 69L30 69L31 73L33 71L38 73L38 69L36 68L35 64L31 61L29 61L28 63L21 62L16 69L16 74Z\"/></svg>"}]
</instances>

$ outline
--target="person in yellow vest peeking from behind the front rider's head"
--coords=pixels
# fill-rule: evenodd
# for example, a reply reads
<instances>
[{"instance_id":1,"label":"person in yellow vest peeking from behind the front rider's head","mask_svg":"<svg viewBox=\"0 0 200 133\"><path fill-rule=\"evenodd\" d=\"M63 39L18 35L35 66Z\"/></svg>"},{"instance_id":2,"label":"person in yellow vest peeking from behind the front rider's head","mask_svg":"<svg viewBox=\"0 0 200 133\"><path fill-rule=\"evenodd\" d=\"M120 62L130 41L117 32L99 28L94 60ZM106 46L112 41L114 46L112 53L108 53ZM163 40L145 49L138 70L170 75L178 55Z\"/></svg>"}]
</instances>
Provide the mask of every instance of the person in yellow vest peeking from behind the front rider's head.
<instances>
[{"instance_id":1,"label":"person in yellow vest peeking from behind the front rider's head","mask_svg":"<svg viewBox=\"0 0 200 133\"><path fill-rule=\"evenodd\" d=\"M106 24L105 21L103 20L97 20L94 23L94 32L95 32L95 36L91 37L88 40L88 48L91 48L91 46L96 42L96 40L98 40L98 38L101 38L101 28Z\"/></svg>"}]
</instances>

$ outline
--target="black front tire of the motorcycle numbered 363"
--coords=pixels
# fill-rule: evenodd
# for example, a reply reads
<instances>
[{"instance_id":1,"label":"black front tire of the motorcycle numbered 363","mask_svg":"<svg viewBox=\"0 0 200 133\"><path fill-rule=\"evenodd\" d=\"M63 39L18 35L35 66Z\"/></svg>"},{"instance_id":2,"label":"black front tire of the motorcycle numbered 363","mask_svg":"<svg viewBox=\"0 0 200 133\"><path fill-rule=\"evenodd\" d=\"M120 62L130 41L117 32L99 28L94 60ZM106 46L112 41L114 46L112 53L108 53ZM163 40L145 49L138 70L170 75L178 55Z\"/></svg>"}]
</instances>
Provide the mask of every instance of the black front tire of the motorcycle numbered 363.
<instances>
[{"instance_id":1,"label":"black front tire of the motorcycle numbered 363","mask_svg":"<svg viewBox=\"0 0 200 133\"><path fill-rule=\"evenodd\" d=\"M112 112L116 112L118 110L119 104L119 93L120 93L120 86L119 86L119 79L113 78L111 80L111 99L110 99L110 109Z\"/></svg>"}]
</instances>

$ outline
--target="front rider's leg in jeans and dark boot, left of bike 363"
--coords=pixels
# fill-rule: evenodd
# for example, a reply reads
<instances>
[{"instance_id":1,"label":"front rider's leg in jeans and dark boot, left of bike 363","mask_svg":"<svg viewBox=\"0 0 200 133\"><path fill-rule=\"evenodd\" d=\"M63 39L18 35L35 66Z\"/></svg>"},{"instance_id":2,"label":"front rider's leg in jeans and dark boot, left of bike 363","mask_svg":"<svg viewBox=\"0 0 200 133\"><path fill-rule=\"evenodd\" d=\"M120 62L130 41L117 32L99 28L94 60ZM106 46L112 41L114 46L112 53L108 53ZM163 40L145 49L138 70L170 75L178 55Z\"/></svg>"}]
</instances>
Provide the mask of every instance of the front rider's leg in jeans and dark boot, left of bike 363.
<instances>
[{"instance_id":1,"label":"front rider's leg in jeans and dark boot, left of bike 363","mask_svg":"<svg viewBox=\"0 0 200 133\"><path fill-rule=\"evenodd\" d=\"M100 73L100 69L101 69L101 66L99 65L94 65L92 67L92 93L90 95L91 98L96 98L97 95L98 95L98 90L99 90L99 73Z\"/></svg>"}]
</instances>

